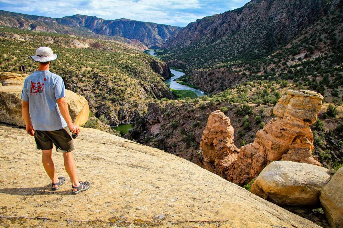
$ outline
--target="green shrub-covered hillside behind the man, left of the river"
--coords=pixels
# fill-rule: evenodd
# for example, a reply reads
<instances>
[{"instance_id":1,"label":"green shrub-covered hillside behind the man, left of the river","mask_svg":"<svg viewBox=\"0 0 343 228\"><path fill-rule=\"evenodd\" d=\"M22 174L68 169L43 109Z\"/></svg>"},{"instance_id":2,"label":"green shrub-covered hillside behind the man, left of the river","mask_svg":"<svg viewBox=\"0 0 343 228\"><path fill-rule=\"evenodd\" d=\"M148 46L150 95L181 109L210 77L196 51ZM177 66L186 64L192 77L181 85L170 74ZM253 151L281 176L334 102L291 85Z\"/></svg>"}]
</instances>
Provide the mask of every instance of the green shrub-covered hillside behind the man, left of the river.
<instances>
[{"instance_id":1,"label":"green shrub-covered hillside behind the man, left of the river","mask_svg":"<svg viewBox=\"0 0 343 228\"><path fill-rule=\"evenodd\" d=\"M32 73L36 64L28 56L37 46L52 48L59 58L51 72L63 78L67 89L85 97L95 117L104 115L110 125L131 122L153 99L172 97L164 83L171 77L167 64L132 45L4 27L0 43L1 70L11 73L19 73L21 65Z\"/></svg>"}]
</instances>

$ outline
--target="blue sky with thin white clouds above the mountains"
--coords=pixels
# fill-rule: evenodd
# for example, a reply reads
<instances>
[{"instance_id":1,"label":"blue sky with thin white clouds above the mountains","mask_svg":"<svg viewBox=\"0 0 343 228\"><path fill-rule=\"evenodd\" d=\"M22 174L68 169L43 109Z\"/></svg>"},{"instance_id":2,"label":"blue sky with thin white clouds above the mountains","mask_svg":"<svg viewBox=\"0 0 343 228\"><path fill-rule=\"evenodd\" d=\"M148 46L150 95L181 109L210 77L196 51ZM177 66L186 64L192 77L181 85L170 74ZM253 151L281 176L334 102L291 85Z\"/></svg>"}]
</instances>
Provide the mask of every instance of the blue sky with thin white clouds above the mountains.
<instances>
[{"instance_id":1,"label":"blue sky with thin white clouds above the mountains","mask_svg":"<svg viewBox=\"0 0 343 228\"><path fill-rule=\"evenodd\" d=\"M185 27L205 16L240 8L249 0L0 0L0 9L39 16L75 14L104 19L122 17Z\"/></svg>"}]
</instances>

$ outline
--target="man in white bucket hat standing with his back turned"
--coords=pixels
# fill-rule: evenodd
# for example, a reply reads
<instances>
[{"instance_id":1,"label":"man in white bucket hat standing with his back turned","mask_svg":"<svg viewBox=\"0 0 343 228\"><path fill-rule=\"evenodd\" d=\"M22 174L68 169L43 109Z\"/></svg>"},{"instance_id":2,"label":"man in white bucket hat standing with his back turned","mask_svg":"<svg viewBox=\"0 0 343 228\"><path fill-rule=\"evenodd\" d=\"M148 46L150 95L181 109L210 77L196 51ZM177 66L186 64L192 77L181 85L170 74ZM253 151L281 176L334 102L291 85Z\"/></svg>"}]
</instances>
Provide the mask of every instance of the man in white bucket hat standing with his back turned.
<instances>
[{"instance_id":1,"label":"man in white bucket hat standing with his back turned","mask_svg":"<svg viewBox=\"0 0 343 228\"><path fill-rule=\"evenodd\" d=\"M70 131L78 135L80 128L73 124L65 98L65 88L60 76L49 71L50 62L57 59L48 47L40 47L31 58L38 62L38 70L24 81L22 114L27 134L34 136L37 149L43 150L43 166L52 183L51 190L58 190L66 178L57 177L52 161L52 144L63 153L64 167L70 177L72 193L89 188L89 182L78 181L72 150L74 144ZM25 68L23 68L24 70ZM74 136L75 137L75 136ZM29 182L29 180L28 180Z\"/></svg>"}]
</instances>

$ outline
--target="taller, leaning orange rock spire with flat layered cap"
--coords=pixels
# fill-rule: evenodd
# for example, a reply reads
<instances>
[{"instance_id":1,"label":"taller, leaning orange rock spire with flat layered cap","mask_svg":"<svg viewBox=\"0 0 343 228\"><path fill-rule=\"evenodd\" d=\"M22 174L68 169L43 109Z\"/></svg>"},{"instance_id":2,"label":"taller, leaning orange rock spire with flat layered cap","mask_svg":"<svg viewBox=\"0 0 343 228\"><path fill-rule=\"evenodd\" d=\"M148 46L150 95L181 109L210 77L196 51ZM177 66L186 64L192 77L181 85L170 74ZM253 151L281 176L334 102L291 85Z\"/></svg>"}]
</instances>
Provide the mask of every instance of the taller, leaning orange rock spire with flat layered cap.
<instances>
[{"instance_id":1,"label":"taller, leaning orange rock spire with flat layered cap","mask_svg":"<svg viewBox=\"0 0 343 228\"><path fill-rule=\"evenodd\" d=\"M312 156L313 134L309 125L316 122L322 106L319 93L288 90L273 109L273 118L256 134L255 141L241 147L238 159L229 167L227 179L243 185L272 161L288 160L321 166Z\"/></svg>"}]
</instances>

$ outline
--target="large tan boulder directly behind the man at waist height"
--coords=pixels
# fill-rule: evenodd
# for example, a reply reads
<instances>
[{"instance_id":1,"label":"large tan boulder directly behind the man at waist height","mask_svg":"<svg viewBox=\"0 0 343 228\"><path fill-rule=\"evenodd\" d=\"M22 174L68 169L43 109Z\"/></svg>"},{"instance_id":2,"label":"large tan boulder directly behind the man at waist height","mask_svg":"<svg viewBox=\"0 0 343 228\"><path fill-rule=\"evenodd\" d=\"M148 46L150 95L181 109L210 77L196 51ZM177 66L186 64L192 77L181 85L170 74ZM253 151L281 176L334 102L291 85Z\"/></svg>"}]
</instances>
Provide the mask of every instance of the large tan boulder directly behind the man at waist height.
<instances>
[{"instance_id":1,"label":"large tan boulder directly behind the man at waist height","mask_svg":"<svg viewBox=\"0 0 343 228\"><path fill-rule=\"evenodd\" d=\"M25 126L21 114L21 92L22 86L0 87L0 122ZM85 124L89 115L87 100L69 90L66 90L66 99L73 122L80 126Z\"/></svg>"}]
</instances>

